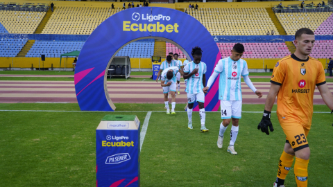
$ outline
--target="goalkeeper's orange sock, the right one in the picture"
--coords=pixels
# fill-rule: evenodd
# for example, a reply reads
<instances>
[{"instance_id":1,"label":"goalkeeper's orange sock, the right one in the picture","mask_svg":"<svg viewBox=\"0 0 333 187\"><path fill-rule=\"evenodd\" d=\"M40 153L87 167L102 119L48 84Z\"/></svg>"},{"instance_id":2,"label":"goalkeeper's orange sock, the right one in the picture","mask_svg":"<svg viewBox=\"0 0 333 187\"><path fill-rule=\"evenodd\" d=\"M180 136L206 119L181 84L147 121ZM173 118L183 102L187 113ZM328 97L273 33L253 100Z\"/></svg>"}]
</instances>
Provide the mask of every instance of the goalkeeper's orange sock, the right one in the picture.
<instances>
[{"instance_id":1,"label":"goalkeeper's orange sock, the right one in the picture","mask_svg":"<svg viewBox=\"0 0 333 187\"><path fill-rule=\"evenodd\" d=\"M296 184L298 187L307 187L307 165L309 160L304 160L296 157L293 171L295 173Z\"/></svg>"}]
</instances>

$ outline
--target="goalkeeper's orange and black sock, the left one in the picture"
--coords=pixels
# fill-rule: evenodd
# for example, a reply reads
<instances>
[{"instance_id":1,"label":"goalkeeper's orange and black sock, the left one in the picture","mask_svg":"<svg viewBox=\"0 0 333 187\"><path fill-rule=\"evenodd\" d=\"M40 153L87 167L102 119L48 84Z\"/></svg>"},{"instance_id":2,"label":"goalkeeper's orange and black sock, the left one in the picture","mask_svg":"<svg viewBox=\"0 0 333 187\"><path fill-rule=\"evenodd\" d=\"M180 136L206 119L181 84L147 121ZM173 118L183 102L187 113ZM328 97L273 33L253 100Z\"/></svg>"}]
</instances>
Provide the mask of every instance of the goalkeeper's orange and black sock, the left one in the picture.
<instances>
[{"instance_id":1,"label":"goalkeeper's orange and black sock, the left one in the picture","mask_svg":"<svg viewBox=\"0 0 333 187\"><path fill-rule=\"evenodd\" d=\"M278 175L276 176L276 183L278 184L278 186L284 184L284 179L286 179L291 165L293 165L293 157L293 155L287 154L284 151L282 152L280 157Z\"/></svg>"}]
</instances>

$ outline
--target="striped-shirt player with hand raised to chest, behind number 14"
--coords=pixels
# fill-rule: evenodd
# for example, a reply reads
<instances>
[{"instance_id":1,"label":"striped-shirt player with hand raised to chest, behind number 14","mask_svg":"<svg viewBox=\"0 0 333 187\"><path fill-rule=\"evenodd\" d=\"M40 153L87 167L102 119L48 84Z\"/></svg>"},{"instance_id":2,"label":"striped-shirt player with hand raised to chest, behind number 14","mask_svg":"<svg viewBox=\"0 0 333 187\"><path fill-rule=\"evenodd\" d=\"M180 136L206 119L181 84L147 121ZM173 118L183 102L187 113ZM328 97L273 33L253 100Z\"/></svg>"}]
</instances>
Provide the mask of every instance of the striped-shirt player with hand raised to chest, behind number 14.
<instances>
[{"instance_id":1,"label":"striped-shirt player with hand raised to chest, behind number 14","mask_svg":"<svg viewBox=\"0 0 333 187\"><path fill-rule=\"evenodd\" d=\"M199 115L201 122L201 132L208 132L209 130L205 127L205 94L203 94L203 88L206 84L205 73L207 71L207 66L205 62L201 62L202 51L201 48L196 46L192 49L192 56L194 57L193 62L189 62L184 68L183 77L187 80L187 86L185 91L187 92L187 117L189 118L189 123L187 127L193 129L192 126L192 111L194 102L198 102L199 105Z\"/></svg>"}]
</instances>

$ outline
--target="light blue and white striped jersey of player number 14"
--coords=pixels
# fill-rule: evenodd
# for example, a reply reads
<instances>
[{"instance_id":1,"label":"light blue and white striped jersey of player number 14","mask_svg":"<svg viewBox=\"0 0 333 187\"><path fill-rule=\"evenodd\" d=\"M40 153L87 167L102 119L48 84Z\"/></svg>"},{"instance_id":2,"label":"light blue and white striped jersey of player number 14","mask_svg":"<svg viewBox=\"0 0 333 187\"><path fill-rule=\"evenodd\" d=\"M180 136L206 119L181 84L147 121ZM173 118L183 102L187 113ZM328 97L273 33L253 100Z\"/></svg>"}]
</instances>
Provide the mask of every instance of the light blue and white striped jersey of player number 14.
<instances>
[{"instance_id":1,"label":"light blue and white striped jersey of player number 14","mask_svg":"<svg viewBox=\"0 0 333 187\"><path fill-rule=\"evenodd\" d=\"M214 71L220 73L219 100L241 100L241 75L248 75L246 61L226 57L219 60Z\"/></svg>"}]
</instances>

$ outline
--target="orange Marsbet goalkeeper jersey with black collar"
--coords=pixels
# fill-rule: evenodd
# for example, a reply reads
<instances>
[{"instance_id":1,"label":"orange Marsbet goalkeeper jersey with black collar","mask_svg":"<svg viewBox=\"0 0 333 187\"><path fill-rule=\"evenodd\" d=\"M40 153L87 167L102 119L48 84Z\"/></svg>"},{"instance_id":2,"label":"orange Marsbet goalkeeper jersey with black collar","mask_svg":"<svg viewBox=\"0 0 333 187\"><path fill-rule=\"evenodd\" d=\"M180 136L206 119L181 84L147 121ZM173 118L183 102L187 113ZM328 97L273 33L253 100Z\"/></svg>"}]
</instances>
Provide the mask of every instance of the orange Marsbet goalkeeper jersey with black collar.
<instances>
[{"instance_id":1,"label":"orange Marsbet goalkeeper jersey with black collar","mask_svg":"<svg viewBox=\"0 0 333 187\"><path fill-rule=\"evenodd\" d=\"M292 54L275 64L271 83L280 85L277 114L280 123L311 125L314 89L325 84L323 65L313 57Z\"/></svg>"}]
</instances>

